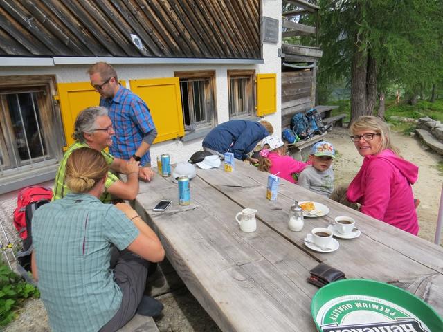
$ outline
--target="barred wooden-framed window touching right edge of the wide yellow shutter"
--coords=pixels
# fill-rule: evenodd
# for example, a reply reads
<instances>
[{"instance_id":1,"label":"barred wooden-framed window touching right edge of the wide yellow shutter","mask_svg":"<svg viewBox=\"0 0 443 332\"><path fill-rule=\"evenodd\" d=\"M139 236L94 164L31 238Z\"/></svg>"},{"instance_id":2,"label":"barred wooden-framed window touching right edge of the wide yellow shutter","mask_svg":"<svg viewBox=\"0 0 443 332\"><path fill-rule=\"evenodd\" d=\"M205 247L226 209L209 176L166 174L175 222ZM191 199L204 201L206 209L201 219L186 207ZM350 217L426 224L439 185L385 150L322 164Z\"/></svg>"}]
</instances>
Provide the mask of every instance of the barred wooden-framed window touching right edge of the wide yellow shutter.
<instances>
[{"instance_id":1,"label":"barred wooden-framed window touching right edge of the wide yellow shutter","mask_svg":"<svg viewBox=\"0 0 443 332\"><path fill-rule=\"evenodd\" d=\"M213 127L215 123L215 71L174 73L180 80L181 106L185 131Z\"/></svg>"}]
</instances>

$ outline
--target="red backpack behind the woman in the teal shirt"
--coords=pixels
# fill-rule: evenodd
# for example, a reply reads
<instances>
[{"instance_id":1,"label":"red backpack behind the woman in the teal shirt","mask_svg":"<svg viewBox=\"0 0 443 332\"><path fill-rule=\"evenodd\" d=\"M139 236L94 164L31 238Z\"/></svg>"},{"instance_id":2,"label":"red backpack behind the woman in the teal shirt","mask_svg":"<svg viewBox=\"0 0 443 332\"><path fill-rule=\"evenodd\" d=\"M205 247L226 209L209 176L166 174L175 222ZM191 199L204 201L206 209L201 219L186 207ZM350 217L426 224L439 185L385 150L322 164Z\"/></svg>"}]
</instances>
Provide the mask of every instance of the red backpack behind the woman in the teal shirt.
<instances>
[{"instance_id":1,"label":"red backpack behind the woman in the teal shirt","mask_svg":"<svg viewBox=\"0 0 443 332\"><path fill-rule=\"evenodd\" d=\"M30 219L32 219L32 215L26 215L26 206L38 203L34 204L35 208L32 209L32 212L34 212L40 205L51 201L52 197L53 191L51 189L40 187L39 185L26 187L19 191L19 195L17 196L17 208L14 210L14 225L19 231L21 239L26 240L28 237L26 219L28 219L29 224ZM30 225L28 225L28 227L30 227Z\"/></svg>"}]
</instances>

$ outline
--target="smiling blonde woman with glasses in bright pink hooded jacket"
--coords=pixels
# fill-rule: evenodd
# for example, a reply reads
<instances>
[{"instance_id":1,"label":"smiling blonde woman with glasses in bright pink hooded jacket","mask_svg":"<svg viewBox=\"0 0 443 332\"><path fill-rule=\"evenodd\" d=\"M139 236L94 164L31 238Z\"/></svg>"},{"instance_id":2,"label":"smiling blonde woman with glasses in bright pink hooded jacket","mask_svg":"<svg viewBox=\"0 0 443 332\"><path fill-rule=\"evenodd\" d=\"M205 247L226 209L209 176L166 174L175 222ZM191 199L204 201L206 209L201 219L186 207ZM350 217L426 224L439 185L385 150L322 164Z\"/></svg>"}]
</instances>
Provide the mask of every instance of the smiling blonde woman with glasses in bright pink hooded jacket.
<instances>
[{"instance_id":1,"label":"smiling blonde woman with glasses in bright pink hooded jacket","mask_svg":"<svg viewBox=\"0 0 443 332\"><path fill-rule=\"evenodd\" d=\"M351 140L364 157L347 189L347 199L361 204L361 212L417 235L419 226L411 185L418 167L404 160L390 142L388 125L374 116L352 123Z\"/></svg>"}]
</instances>

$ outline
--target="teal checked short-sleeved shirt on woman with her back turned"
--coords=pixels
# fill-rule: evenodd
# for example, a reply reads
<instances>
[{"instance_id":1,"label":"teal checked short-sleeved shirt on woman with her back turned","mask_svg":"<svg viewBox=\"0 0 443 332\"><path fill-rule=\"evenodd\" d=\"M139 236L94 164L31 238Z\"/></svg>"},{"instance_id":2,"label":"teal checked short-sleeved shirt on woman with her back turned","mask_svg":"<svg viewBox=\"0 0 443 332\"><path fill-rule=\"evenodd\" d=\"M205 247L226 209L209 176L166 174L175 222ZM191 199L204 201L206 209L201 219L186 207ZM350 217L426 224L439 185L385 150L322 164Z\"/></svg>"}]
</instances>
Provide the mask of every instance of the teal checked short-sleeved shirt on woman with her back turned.
<instances>
[{"instance_id":1,"label":"teal checked short-sleeved shirt on woman with her back turned","mask_svg":"<svg viewBox=\"0 0 443 332\"><path fill-rule=\"evenodd\" d=\"M98 331L120 307L109 268L111 246L123 250L139 234L114 205L68 194L33 217L38 288L53 331Z\"/></svg>"}]
</instances>

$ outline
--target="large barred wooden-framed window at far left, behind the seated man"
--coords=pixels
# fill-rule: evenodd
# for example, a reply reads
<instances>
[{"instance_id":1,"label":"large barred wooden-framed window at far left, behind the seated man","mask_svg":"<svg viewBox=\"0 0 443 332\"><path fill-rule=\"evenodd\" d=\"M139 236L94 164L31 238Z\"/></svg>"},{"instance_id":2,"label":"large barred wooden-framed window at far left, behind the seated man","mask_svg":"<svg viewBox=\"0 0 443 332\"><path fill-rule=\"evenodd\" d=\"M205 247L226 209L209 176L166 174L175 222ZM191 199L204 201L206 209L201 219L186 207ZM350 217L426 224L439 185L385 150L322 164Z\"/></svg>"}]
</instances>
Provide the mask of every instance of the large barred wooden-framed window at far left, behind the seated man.
<instances>
[{"instance_id":1,"label":"large barred wooden-framed window at far left, behind the seated man","mask_svg":"<svg viewBox=\"0 0 443 332\"><path fill-rule=\"evenodd\" d=\"M1 77L0 174L55 164L62 155L60 116L52 76Z\"/></svg>"}]
</instances>

